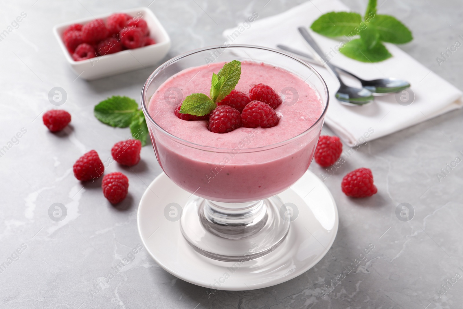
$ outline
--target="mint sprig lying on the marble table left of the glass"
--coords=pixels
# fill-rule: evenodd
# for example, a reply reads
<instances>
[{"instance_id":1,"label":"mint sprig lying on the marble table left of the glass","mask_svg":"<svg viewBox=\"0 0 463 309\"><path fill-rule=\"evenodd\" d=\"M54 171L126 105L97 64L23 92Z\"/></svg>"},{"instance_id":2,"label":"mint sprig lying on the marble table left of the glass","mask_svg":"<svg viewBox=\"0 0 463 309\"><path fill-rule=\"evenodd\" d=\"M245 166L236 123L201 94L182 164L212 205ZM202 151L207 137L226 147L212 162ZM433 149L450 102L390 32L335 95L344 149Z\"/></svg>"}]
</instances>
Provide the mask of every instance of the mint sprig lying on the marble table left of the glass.
<instances>
[{"instance_id":1,"label":"mint sprig lying on the marble table left of the glass","mask_svg":"<svg viewBox=\"0 0 463 309\"><path fill-rule=\"evenodd\" d=\"M132 137L139 139L142 146L146 145L148 126L143 111L138 109L135 100L126 96L113 95L95 105L94 115L108 126L130 127Z\"/></svg>"}]
</instances>

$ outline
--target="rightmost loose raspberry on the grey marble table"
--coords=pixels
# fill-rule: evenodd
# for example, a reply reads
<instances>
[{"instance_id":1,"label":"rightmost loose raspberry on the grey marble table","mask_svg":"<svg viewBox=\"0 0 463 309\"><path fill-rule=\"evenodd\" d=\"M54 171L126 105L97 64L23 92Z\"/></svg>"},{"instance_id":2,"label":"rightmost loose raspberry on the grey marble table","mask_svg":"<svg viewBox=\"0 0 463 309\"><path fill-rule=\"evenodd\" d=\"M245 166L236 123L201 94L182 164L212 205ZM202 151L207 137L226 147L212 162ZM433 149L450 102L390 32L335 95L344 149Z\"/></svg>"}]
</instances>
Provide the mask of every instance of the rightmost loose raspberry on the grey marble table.
<instances>
[{"instance_id":1,"label":"rightmost loose raspberry on the grey marble table","mask_svg":"<svg viewBox=\"0 0 463 309\"><path fill-rule=\"evenodd\" d=\"M353 170L344 176L341 189L345 195L352 197L367 197L378 192L373 184L371 170L364 167Z\"/></svg>"}]
</instances>

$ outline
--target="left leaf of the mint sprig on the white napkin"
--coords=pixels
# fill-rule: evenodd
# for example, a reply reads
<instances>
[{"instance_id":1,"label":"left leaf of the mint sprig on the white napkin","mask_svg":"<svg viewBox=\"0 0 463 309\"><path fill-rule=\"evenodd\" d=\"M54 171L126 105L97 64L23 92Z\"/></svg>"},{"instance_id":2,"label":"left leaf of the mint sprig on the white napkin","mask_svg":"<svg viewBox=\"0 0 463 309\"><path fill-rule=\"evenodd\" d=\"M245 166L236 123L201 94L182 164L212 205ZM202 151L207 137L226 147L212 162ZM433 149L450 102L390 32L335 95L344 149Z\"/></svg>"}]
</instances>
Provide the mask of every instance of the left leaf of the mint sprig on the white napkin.
<instances>
[{"instance_id":1,"label":"left leaf of the mint sprig on the white napkin","mask_svg":"<svg viewBox=\"0 0 463 309\"><path fill-rule=\"evenodd\" d=\"M360 31L362 16L351 12L330 12L320 16L310 26L314 32L326 37L354 36ZM356 31L357 28L357 31Z\"/></svg>"}]
</instances>

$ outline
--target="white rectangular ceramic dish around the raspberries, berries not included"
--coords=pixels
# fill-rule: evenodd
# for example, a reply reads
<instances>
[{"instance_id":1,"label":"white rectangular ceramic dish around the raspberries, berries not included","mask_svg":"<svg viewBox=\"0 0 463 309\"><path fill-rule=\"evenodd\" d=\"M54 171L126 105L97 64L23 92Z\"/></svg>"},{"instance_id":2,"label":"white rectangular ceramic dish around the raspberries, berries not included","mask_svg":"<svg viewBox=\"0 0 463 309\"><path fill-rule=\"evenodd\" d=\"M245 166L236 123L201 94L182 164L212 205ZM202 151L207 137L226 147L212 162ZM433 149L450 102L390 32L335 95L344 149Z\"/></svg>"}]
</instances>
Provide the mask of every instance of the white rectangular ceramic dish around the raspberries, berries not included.
<instances>
[{"instance_id":1,"label":"white rectangular ceramic dish around the raspberries, berries not included","mask_svg":"<svg viewBox=\"0 0 463 309\"><path fill-rule=\"evenodd\" d=\"M95 18L100 18L106 21L106 18L112 13L86 19L73 20L53 27L53 32L55 33L56 39L63 50L64 57L68 60L75 74L81 78L93 80L151 66L159 62L169 51L169 35L149 8L140 7L126 11L119 11L118 13L127 13L133 17L138 16L143 18L150 29L150 37L156 41L156 44L133 50L122 50L114 54L94 57L87 60L74 61L63 42L64 30L69 25L86 24Z\"/></svg>"}]
</instances>

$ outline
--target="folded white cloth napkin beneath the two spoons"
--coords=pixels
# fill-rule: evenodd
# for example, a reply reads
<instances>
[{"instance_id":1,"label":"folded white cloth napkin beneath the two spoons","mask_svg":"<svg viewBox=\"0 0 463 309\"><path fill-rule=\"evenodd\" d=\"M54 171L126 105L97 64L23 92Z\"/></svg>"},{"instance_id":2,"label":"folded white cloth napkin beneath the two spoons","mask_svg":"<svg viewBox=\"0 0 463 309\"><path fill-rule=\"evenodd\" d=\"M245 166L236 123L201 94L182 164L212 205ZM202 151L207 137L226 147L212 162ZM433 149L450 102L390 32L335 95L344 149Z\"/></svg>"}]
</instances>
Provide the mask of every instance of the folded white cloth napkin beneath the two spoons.
<instances>
[{"instance_id":1,"label":"folded white cloth napkin beneath the two spoons","mask_svg":"<svg viewBox=\"0 0 463 309\"><path fill-rule=\"evenodd\" d=\"M231 44L253 44L275 49L277 44L284 44L310 54L310 49L297 28L309 27L321 14L331 11L349 11L349 9L338 0L312 0L284 13L265 19L257 18L244 26L238 25L236 28L227 29L223 35ZM240 33L238 37L236 30ZM325 52L335 50L339 44L336 40L309 31ZM232 36L233 32L235 35ZM404 103L403 100L407 101L407 93L401 93L397 98L396 95L376 96L373 104L369 106L342 105L334 96L339 88L338 81L323 67L314 66L325 79L330 91L330 105L325 123L349 146L362 144L366 140L377 139L419 122L428 121L463 105L460 90L394 44L386 43L386 46L393 57L379 63L362 63L345 57L339 52L332 52L334 57L331 62L363 79L396 77L407 80L412 85L412 91L408 91L408 95L411 97L414 94L415 97L412 104L409 104L410 101L408 101L409 105L407 102ZM345 83L355 85L352 84L353 79L346 76L343 76L343 79Z\"/></svg>"}]
</instances>

